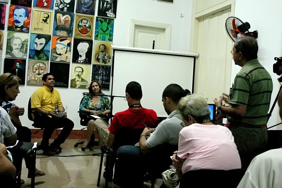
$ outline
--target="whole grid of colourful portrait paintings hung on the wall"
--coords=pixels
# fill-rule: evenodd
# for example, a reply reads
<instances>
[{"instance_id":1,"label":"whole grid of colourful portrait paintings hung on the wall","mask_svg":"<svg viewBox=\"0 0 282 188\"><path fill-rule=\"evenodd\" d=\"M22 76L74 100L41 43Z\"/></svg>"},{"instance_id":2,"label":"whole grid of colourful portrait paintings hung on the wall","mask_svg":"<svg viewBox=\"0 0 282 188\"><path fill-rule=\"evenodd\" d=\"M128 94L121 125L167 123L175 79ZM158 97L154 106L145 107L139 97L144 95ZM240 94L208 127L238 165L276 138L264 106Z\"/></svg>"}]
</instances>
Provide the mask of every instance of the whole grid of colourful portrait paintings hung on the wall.
<instances>
[{"instance_id":1,"label":"whole grid of colourful portrait paintings hung on the wall","mask_svg":"<svg viewBox=\"0 0 282 188\"><path fill-rule=\"evenodd\" d=\"M2 73L42 86L52 72L57 87L98 80L109 90L116 16L117 0L0 0Z\"/></svg>"}]
</instances>

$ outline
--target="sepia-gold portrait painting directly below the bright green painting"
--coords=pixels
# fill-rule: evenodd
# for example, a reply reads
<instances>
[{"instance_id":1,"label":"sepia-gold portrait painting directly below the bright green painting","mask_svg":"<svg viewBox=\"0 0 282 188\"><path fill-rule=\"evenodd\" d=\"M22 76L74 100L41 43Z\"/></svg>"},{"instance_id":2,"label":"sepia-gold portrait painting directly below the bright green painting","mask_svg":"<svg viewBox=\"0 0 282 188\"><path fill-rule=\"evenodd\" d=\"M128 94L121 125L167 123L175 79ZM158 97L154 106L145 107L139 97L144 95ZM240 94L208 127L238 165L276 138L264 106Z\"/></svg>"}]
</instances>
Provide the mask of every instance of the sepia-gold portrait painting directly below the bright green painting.
<instances>
[{"instance_id":1,"label":"sepia-gold portrait painting directly below the bright green painting","mask_svg":"<svg viewBox=\"0 0 282 188\"><path fill-rule=\"evenodd\" d=\"M112 65L112 42L95 40L93 64Z\"/></svg>"}]
</instances>

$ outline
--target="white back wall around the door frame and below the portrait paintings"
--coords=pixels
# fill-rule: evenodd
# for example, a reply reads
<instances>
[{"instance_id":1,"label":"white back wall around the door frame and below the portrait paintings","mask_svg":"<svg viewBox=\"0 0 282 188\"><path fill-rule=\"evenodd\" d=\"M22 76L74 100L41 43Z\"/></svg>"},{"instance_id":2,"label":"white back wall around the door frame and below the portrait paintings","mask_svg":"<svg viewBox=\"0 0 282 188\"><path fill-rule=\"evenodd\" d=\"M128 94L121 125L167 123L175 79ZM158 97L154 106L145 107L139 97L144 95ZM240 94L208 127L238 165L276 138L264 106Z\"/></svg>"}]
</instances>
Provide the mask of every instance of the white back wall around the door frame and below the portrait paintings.
<instances>
[{"instance_id":1,"label":"white back wall around the door frame and below the portrait paintings","mask_svg":"<svg viewBox=\"0 0 282 188\"><path fill-rule=\"evenodd\" d=\"M9 1L10 2L10 1ZM96 2L98 6L98 0ZM6 20L8 18L9 4L6 9ZM171 44L170 50L188 52L190 48L190 30L191 30L191 12L192 0L174 0L174 3L162 2L157 0L118 0L117 18L114 21L114 36L113 45L128 46L128 34L130 19L138 19L151 22L159 22L171 24ZM97 14L97 8L96 8ZM183 14L184 17L180 17ZM32 20L32 18L31 18ZM5 25L5 36L7 36L7 22ZM6 48L7 39L4 39L3 49ZM5 50L3 50L3 54ZM29 52L28 52L29 53ZM4 56L4 55L3 55ZM1 58L1 57L0 57ZM4 57L3 57L4 60ZM0 67L3 73L3 63ZM18 97L13 103L19 107L25 107L27 111L28 100L31 94L38 89L39 86L20 86ZM80 129L79 103L82 98L82 92L86 89L70 89L70 88L56 88L61 95L62 102L68 106L68 118L74 123L74 129ZM124 88L125 90L125 88ZM106 95L110 95L110 91L103 91ZM24 126L33 128L32 122L27 118L27 112L21 118Z\"/></svg>"}]
</instances>

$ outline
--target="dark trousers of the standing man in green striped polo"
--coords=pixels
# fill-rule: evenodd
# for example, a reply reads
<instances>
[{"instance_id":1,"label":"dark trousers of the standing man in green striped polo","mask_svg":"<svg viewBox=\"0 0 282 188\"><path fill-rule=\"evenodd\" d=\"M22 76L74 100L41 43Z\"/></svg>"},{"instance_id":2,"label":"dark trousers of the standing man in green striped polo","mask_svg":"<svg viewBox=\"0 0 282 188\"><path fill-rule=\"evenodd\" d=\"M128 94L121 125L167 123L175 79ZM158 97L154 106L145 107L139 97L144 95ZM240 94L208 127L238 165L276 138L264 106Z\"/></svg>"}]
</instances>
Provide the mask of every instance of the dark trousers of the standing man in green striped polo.
<instances>
[{"instance_id":1,"label":"dark trousers of the standing man in green striped polo","mask_svg":"<svg viewBox=\"0 0 282 188\"><path fill-rule=\"evenodd\" d=\"M247 128L229 126L241 158L242 168L247 169L255 156L264 152L267 143L267 127Z\"/></svg>"}]
</instances>

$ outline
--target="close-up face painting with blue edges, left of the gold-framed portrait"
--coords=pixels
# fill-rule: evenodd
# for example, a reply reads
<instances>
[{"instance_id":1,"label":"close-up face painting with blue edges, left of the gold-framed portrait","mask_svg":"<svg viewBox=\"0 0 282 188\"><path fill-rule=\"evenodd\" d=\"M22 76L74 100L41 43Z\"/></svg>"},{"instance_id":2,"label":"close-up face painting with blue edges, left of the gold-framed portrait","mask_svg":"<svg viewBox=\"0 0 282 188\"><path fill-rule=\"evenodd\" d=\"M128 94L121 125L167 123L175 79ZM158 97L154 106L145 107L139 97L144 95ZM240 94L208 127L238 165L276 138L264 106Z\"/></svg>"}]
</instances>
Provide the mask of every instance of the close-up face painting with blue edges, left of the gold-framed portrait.
<instances>
[{"instance_id":1,"label":"close-up face painting with blue edges, left of the gold-framed portrait","mask_svg":"<svg viewBox=\"0 0 282 188\"><path fill-rule=\"evenodd\" d=\"M74 13L55 11L53 35L72 37Z\"/></svg>"}]
</instances>

